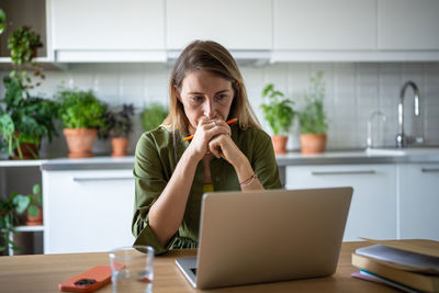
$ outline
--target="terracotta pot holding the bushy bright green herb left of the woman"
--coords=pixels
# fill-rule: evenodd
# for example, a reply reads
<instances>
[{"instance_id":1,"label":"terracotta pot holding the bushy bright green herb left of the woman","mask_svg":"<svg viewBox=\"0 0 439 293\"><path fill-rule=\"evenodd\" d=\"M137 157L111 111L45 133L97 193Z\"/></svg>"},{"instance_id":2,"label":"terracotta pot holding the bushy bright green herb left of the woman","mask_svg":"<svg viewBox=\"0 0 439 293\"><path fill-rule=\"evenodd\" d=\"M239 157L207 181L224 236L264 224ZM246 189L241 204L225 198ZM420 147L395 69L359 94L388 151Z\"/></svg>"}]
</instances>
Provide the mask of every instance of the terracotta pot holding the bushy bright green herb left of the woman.
<instances>
[{"instance_id":1,"label":"terracotta pot holding the bushy bright green herb left of the woman","mask_svg":"<svg viewBox=\"0 0 439 293\"><path fill-rule=\"evenodd\" d=\"M69 158L89 158L94 144L98 129L93 128L64 128L67 146L70 150Z\"/></svg>"}]
</instances>

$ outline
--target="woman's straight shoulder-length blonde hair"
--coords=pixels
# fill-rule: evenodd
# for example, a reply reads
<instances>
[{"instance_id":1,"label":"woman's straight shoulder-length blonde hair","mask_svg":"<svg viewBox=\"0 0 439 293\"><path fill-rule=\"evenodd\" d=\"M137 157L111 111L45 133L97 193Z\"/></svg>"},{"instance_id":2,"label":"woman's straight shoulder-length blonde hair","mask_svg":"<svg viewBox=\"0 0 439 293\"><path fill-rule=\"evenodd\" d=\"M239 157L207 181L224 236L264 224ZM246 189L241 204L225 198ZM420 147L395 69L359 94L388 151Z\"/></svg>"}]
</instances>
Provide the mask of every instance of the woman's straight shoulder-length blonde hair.
<instances>
[{"instance_id":1,"label":"woman's straight shoulder-length blonde hair","mask_svg":"<svg viewBox=\"0 0 439 293\"><path fill-rule=\"evenodd\" d=\"M181 91L185 75L193 70L206 70L229 80L235 98L227 120L237 117L241 129L260 128L235 59L225 47L213 41L194 41L178 57L169 81L170 109L162 123L165 127L180 133L188 132L189 121L183 104L177 98L177 91Z\"/></svg>"}]
</instances>

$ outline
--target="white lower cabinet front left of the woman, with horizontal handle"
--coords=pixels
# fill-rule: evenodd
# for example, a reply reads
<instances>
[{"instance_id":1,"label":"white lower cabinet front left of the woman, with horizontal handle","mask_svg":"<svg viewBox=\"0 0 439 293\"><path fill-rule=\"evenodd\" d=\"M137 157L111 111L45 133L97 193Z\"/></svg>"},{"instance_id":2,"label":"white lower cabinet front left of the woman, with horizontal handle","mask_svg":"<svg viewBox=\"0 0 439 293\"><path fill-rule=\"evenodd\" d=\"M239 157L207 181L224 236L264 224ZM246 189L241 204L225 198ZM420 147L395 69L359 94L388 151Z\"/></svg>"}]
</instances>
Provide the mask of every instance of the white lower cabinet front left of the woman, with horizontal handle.
<instances>
[{"instance_id":1,"label":"white lower cabinet front left of the woman, with horizontal handle","mask_svg":"<svg viewBox=\"0 0 439 293\"><path fill-rule=\"evenodd\" d=\"M44 253L108 251L134 243L132 169L43 170Z\"/></svg>"}]
</instances>

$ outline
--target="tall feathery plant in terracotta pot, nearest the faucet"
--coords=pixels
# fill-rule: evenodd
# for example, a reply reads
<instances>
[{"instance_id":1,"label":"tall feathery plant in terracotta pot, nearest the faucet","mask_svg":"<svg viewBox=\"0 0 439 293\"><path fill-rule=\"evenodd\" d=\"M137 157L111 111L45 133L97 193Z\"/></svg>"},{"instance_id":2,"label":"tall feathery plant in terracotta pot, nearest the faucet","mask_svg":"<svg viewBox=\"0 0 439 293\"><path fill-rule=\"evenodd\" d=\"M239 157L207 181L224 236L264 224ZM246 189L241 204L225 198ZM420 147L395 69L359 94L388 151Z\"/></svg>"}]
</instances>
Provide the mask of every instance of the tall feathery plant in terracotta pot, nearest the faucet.
<instances>
[{"instance_id":1,"label":"tall feathery plant in terracotta pot, nearest the faucet","mask_svg":"<svg viewBox=\"0 0 439 293\"><path fill-rule=\"evenodd\" d=\"M323 75L318 71L309 78L309 90L304 94L305 106L299 114L303 154L323 153L326 149L328 124L323 104L325 98Z\"/></svg>"}]
</instances>

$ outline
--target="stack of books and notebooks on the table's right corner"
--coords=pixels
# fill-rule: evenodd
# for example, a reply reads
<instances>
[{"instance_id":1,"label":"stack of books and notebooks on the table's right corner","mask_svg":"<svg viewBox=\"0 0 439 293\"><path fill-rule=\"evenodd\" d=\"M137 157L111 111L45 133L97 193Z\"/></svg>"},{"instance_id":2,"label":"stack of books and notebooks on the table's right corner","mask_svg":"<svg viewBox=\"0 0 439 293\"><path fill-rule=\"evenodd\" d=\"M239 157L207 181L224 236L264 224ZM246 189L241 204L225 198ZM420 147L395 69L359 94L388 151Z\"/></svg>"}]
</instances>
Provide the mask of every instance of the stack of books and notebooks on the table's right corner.
<instances>
[{"instance_id":1,"label":"stack of books and notebooks on the table's right corner","mask_svg":"<svg viewBox=\"0 0 439 293\"><path fill-rule=\"evenodd\" d=\"M372 240L352 253L352 277L406 292L439 292L439 243L425 239Z\"/></svg>"}]
</instances>

